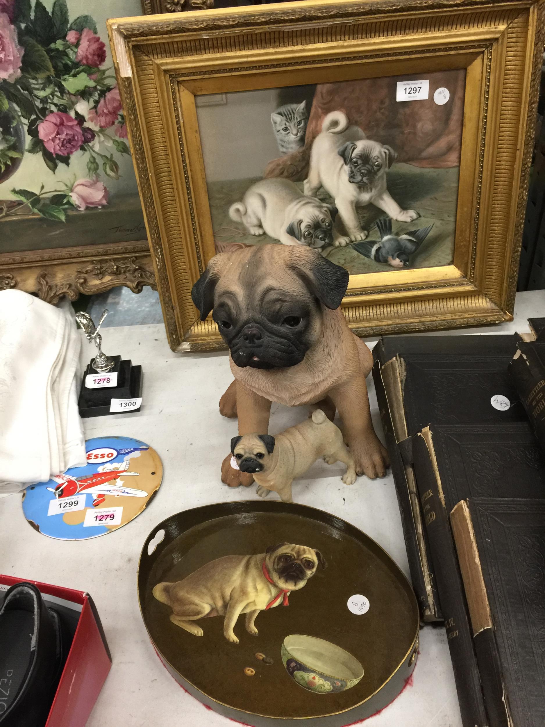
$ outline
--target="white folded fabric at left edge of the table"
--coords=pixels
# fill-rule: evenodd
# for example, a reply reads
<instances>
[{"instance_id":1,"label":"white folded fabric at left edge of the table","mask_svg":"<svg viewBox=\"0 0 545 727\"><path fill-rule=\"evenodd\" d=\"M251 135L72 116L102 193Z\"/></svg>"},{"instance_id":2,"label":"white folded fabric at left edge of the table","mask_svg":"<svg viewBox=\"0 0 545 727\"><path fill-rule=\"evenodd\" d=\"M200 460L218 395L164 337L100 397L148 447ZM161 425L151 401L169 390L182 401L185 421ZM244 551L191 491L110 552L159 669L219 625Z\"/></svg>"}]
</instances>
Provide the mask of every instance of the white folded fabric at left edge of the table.
<instances>
[{"instance_id":1,"label":"white folded fabric at left edge of the table","mask_svg":"<svg viewBox=\"0 0 545 727\"><path fill-rule=\"evenodd\" d=\"M68 302L55 308L19 290L0 292L0 491L85 464L80 346Z\"/></svg>"}]
</instances>

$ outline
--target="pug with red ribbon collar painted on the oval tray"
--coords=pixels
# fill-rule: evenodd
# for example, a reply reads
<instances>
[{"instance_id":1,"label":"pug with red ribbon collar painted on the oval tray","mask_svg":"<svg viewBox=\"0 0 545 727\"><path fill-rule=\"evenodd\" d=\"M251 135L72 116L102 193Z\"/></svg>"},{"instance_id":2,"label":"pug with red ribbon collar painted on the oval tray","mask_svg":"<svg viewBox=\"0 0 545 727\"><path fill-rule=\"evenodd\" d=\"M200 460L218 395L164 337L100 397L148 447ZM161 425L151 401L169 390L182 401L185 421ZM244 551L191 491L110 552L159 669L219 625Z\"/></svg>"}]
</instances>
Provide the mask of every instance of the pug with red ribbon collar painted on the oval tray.
<instances>
[{"instance_id":1,"label":"pug with red ribbon collar painted on the oval tray","mask_svg":"<svg viewBox=\"0 0 545 727\"><path fill-rule=\"evenodd\" d=\"M158 583L153 595L172 609L173 624L202 636L195 621L224 616L223 635L238 643L233 628L238 616L246 614L246 631L257 636L259 611L288 606L292 591L301 590L327 563L319 550L305 545L280 543L259 555L225 555L206 563L176 583Z\"/></svg>"}]
</instances>

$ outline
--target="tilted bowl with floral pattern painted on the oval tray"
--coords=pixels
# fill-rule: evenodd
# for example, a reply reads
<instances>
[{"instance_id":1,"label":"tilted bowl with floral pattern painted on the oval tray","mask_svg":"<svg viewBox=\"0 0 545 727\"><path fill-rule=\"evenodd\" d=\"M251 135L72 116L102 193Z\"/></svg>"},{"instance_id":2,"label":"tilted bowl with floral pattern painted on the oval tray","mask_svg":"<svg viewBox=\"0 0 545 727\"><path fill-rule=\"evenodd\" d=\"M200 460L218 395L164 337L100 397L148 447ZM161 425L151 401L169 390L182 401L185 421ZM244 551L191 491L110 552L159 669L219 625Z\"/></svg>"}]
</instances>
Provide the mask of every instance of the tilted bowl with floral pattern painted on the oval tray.
<instances>
[{"instance_id":1,"label":"tilted bowl with floral pattern painted on the oval tray","mask_svg":"<svg viewBox=\"0 0 545 727\"><path fill-rule=\"evenodd\" d=\"M363 677L363 667L355 656L315 636L286 636L282 662L296 684L315 694L346 691Z\"/></svg>"}]
</instances>

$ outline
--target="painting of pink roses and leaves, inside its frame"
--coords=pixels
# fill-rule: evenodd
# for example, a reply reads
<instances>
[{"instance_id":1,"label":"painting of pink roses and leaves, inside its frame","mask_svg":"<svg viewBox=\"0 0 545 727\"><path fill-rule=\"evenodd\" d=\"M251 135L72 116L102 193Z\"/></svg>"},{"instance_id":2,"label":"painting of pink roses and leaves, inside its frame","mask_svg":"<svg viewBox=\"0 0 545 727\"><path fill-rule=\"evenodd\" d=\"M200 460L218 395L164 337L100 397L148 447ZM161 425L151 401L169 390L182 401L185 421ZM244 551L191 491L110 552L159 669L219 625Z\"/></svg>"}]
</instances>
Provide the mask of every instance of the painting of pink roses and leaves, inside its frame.
<instances>
[{"instance_id":1,"label":"painting of pink roses and leaves, inside its frame","mask_svg":"<svg viewBox=\"0 0 545 727\"><path fill-rule=\"evenodd\" d=\"M78 12L92 3L48 6L0 0L0 251L145 238L105 28ZM105 209L82 237L78 216Z\"/></svg>"}]
</instances>

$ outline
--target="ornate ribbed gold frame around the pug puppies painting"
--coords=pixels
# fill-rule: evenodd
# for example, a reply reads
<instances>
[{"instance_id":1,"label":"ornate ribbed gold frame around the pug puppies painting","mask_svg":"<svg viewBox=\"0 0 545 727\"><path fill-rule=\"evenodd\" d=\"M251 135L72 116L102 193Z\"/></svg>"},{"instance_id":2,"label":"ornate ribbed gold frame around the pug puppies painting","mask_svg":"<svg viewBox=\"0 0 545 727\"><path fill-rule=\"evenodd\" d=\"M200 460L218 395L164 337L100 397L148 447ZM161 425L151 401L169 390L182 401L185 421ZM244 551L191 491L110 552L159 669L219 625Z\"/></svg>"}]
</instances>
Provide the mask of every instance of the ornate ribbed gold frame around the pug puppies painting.
<instances>
[{"instance_id":1,"label":"ornate ribbed gold frame around the pug puppies painting","mask_svg":"<svg viewBox=\"0 0 545 727\"><path fill-rule=\"evenodd\" d=\"M359 335L512 319L544 45L543 0L308 0L110 20L166 329L225 348L191 288L213 257L195 96L467 71L452 265L351 276Z\"/></svg>"}]
</instances>

